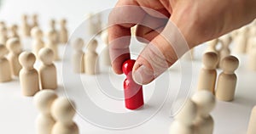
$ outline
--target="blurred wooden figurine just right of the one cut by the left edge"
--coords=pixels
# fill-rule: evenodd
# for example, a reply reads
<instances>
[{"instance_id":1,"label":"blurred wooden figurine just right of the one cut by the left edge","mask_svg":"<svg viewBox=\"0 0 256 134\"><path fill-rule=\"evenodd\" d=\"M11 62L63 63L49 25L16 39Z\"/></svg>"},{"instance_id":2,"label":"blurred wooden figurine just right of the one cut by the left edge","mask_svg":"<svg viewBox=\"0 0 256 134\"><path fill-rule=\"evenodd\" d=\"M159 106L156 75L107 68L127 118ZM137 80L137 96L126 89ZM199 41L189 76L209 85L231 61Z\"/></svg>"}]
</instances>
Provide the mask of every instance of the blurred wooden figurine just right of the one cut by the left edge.
<instances>
[{"instance_id":1,"label":"blurred wooden figurine just right of the one cut by the left edge","mask_svg":"<svg viewBox=\"0 0 256 134\"><path fill-rule=\"evenodd\" d=\"M20 40L18 38L10 38L6 42L6 46L9 50L8 59L10 62L12 75L19 76L21 70L19 55L22 52L20 47Z\"/></svg>"}]
</instances>

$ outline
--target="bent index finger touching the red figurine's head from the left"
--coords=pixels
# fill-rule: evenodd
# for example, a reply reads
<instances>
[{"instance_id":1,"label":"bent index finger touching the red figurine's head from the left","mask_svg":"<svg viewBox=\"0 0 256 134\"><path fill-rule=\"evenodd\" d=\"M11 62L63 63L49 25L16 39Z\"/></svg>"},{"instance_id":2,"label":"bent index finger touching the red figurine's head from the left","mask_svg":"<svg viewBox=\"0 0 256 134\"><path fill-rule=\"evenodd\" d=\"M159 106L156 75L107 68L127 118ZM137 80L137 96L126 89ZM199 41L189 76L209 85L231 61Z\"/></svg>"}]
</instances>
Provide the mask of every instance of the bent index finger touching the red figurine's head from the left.
<instances>
[{"instance_id":1,"label":"bent index finger touching the red figurine's head from the left","mask_svg":"<svg viewBox=\"0 0 256 134\"><path fill-rule=\"evenodd\" d=\"M144 15L143 8L130 0L119 1L109 14L109 54L117 74L123 73L122 64L130 59L131 27L141 22Z\"/></svg>"}]
</instances>

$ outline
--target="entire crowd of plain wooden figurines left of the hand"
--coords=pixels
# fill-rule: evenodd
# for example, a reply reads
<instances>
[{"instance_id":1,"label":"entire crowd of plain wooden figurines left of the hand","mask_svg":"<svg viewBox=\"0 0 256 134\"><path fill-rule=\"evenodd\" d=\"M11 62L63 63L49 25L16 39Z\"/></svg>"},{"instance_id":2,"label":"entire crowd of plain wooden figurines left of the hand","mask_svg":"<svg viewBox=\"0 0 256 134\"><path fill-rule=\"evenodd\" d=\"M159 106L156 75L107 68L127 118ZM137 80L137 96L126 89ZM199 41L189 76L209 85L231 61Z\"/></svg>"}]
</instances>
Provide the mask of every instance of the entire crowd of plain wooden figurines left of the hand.
<instances>
[{"instance_id":1,"label":"entire crowd of plain wooden figurines left of the hand","mask_svg":"<svg viewBox=\"0 0 256 134\"><path fill-rule=\"evenodd\" d=\"M95 20L93 15L88 15L90 35L101 31L101 26L98 26L102 23L101 16L96 15ZM102 51L102 61L110 66L108 31L102 31L100 35L106 44ZM79 134L78 126L73 122L74 102L67 98L58 98L55 92L58 82L54 62L60 61L59 46L68 44L68 36L65 19L58 23L49 20L49 29L45 32L40 28L38 14L23 14L19 25L9 26L4 21L0 22L0 83L18 79L22 94L26 97L34 96L34 103L40 112L36 121L38 134ZM23 50L22 41L26 39L31 41L29 50ZM97 40L92 39L88 43L86 54L83 52L82 38L73 41L72 46L74 73L95 75ZM37 60L41 63L38 70L34 68Z\"/></svg>"}]
</instances>

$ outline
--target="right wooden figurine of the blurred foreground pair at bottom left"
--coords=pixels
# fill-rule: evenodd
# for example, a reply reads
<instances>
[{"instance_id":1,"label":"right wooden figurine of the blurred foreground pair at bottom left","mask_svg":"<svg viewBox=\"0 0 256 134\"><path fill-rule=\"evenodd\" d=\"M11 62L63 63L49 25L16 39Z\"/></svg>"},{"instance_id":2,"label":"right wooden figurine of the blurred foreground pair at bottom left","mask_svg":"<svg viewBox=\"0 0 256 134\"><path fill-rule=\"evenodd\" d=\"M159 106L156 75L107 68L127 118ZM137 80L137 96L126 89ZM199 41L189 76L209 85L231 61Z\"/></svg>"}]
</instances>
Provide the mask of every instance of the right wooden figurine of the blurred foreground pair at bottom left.
<instances>
[{"instance_id":1,"label":"right wooden figurine of the blurred foreground pair at bottom left","mask_svg":"<svg viewBox=\"0 0 256 134\"><path fill-rule=\"evenodd\" d=\"M75 105L67 98L57 98L51 107L51 114L56 120L52 134L79 134L79 126L73 122Z\"/></svg>"}]
</instances>

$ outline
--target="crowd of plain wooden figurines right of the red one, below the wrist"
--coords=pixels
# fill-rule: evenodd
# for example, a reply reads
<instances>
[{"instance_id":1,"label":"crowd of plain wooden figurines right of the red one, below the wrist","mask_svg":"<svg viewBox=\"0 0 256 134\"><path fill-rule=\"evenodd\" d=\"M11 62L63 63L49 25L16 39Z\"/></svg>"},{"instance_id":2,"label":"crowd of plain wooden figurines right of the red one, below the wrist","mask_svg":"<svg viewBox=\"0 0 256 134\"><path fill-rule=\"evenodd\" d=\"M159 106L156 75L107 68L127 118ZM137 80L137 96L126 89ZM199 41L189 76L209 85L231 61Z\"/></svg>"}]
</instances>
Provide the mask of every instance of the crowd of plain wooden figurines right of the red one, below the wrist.
<instances>
[{"instance_id":1,"label":"crowd of plain wooden figurines right of the red one, below the wrist","mask_svg":"<svg viewBox=\"0 0 256 134\"><path fill-rule=\"evenodd\" d=\"M175 116L170 133L212 134L214 120L210 112L216 100L231 102L235 98L239 60L247 56L247 70L256 71L256 20L210 42L202 57L197 91ZM232 44L232 47L231 47ZM231 49L232 48L232 49ZM194 49L184 59L194 59ZM236 56L234 56L236 55ZM218 75L217 70L221 70ZM248 123L247 134L256 133L256 106Z\"/></svg>"}]
</instances>

